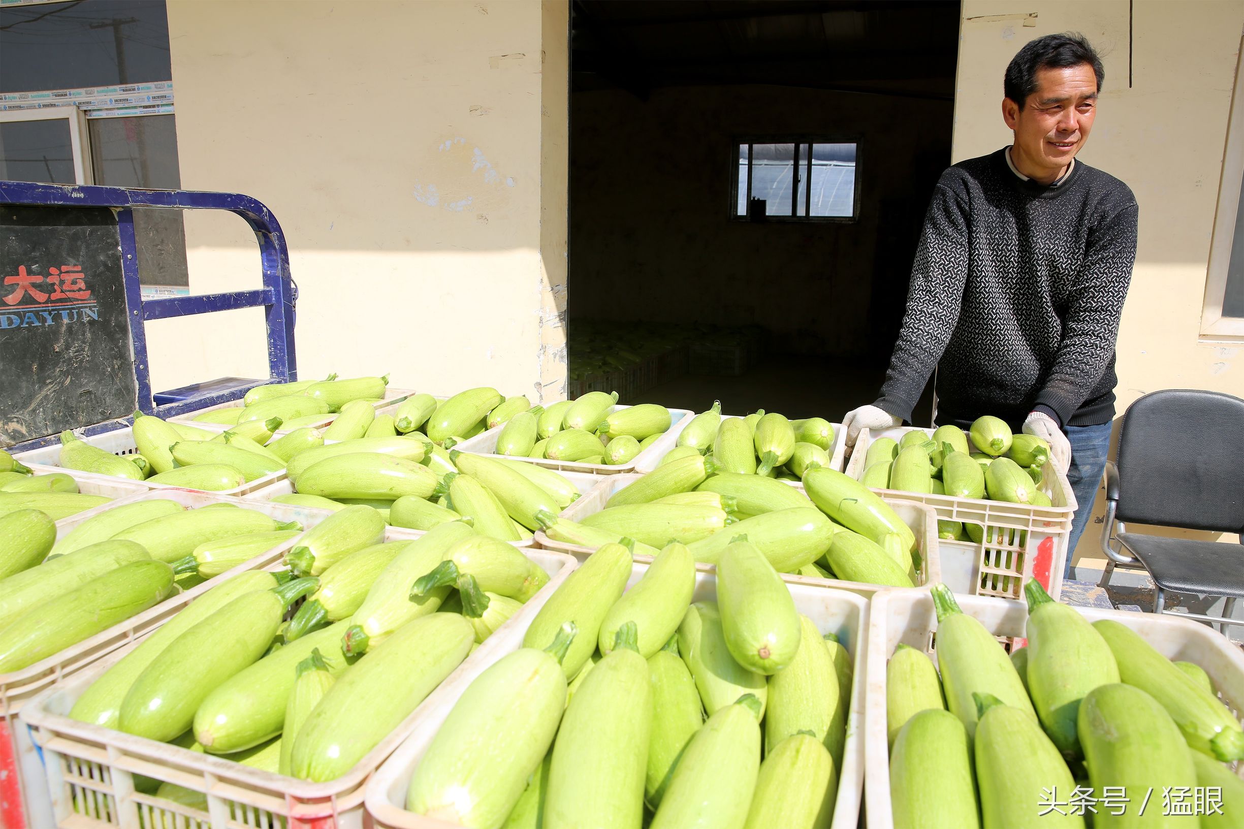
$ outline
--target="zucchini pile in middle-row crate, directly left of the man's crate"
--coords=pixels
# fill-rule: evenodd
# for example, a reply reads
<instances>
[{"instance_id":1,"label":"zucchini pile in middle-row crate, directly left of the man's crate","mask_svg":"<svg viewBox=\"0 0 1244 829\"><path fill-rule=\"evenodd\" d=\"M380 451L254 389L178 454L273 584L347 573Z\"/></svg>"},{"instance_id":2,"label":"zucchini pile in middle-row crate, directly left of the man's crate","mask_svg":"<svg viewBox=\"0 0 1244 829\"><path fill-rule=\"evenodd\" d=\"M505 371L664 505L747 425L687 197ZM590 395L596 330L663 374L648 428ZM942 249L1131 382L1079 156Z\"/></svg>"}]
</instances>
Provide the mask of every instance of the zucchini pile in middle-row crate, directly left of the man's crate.
<instances>
[{"instance_id":1,"label":"zucchini pile in middle-row crate, directly left of the man's crate","mask_svg":"<svg viewBox=\"0 0 1244 829\"><path fill-rule=\"evenodd\" d=\"M804 487L807 494L764 475L720 472L692 452L617 490L581 522L551 512L537 518L545 535L564 544L596 548L626 536L636 553L654 555L677 540L697 561L717 564L733 538L746 535L779 573L917 584L916 535L880 497L826 467L806 469Z\"/></svg>"}]
</instances>

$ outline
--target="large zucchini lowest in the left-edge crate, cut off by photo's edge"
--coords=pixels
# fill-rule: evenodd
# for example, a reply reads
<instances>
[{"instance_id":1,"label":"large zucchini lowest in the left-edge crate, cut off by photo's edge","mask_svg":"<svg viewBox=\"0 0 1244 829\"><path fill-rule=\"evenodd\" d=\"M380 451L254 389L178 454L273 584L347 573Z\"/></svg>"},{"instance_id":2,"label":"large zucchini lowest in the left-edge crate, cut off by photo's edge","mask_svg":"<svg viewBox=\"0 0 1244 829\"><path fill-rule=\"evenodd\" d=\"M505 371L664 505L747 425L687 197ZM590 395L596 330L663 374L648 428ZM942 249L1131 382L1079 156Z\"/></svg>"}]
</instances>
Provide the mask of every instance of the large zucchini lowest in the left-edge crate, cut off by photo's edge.
<instances>
[{"instance_id":1,"label":"large zucchini lowest in the left-edge crate, cut off by photo's edge","mask_svg":"<svg viewBox=\"0 0 1244 829\"><path fill-rule=\"evenodd\" d=\"M163 561L131 561L109 570L0 630L0 673L20 671L77 645L158 605L172 592L173 568Z\"/></svg>"}]
</instances>

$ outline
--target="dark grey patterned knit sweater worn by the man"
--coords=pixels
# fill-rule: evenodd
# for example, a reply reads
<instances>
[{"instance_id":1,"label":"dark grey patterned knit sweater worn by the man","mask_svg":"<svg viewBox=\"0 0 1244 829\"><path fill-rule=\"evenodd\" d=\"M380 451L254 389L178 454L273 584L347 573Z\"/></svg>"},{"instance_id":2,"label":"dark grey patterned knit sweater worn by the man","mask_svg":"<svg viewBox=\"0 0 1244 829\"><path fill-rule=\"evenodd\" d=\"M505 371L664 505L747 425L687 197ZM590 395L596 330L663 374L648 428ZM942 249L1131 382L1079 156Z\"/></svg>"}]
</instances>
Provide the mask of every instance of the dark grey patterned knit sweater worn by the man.
<instances>
[{"instance_id":1,"label":"dark grey patterned knit sweater worn by the man","mask_svg":"<svg viewBox=\"0 0 1244 829\"><path fill-rule=\"evenodd\" d=\"M1108 422L1136 218L1132 190L1079 161L1055 185L1021 179L1005 149L947 169L876 405L911 419L937 368L938 423L1018 427L1037 407Z\"/></svg>"}]
</instances>

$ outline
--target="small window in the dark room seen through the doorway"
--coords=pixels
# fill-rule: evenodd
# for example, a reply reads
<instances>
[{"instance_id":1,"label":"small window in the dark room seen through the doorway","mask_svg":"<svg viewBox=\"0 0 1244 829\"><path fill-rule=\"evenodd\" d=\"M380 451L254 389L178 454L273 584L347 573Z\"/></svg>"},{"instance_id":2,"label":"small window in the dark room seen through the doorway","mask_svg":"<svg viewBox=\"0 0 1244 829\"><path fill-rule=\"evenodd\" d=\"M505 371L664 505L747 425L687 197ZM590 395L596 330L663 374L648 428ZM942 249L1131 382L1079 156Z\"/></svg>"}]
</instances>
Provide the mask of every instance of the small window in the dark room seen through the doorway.
<instances>
[{"instance_id":1,"label":"small window in the dark room seen through the doorway","mask_svg":"<svg viewBox=\"0 0 1244 829\"><path fill-rule=\"evenodd\" d=\"M816 141L738 143L734 217L855 219L856 148Z\"/></svg>"}]
</instances>

